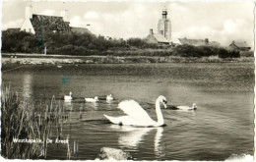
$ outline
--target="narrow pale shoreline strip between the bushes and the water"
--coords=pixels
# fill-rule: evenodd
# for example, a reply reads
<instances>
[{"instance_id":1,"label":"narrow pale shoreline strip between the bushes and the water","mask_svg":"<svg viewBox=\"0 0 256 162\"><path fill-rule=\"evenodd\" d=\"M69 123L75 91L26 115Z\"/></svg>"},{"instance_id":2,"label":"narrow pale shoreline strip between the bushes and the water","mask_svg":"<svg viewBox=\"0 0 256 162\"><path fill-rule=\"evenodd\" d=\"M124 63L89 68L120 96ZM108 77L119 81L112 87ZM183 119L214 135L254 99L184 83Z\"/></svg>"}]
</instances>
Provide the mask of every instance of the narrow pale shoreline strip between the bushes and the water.
<instances>
[{"instance_id":1,"label":"narrow pale shoreline strip between the bushes and the water","mask_svg":"<svg viewBox=\"0 0 256 162\"><path fill-rule=\"evenodd\" d=\"M71 55L43 55L2 53L1 63L21 65L41 64L136 64L136 63L232 63L254 62L254 57L219 58L210 57L179 57L179 56L71 56Z\"/></svg>"}]
</instances>

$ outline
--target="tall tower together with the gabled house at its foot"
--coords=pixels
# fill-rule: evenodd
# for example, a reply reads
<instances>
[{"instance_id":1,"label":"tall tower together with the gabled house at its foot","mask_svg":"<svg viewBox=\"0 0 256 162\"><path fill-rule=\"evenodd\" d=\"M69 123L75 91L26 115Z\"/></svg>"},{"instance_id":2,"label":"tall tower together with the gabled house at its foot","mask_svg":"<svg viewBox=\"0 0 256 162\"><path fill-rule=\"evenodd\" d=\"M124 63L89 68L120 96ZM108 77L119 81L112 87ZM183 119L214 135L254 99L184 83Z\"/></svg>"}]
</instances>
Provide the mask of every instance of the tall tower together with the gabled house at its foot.
<instances>
[{"instance_id":1,"label":"tall tower together with the gabled house at its foot","mask_svg":"<svg viewBox=\"0 0 256 162\"><path fill-rule=\"evenodd\" d=\"M149 43L170 44L171 42L171 25L167 19L167 11L162 10L161 19L159 20L158 33L154 33L153 28L150 29L150 34L146 37Z\"/></svg>"}]
</instances>

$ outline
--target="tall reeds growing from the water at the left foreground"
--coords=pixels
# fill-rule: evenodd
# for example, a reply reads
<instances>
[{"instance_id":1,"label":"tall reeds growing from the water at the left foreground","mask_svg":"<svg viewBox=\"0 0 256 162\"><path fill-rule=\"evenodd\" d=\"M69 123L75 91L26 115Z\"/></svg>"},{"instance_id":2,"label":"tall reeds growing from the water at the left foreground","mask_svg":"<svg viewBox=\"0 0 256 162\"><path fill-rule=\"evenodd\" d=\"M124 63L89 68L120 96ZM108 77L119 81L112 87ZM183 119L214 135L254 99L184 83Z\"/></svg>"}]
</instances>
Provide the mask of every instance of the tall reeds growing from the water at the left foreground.
<instances>
[{"instance_id":1,"label":"tall reeds growing from the water at the left foreground","mask_svg":"<svg viewBox=\"0 0 256 162\"><path fill-rule=\"evenodd\" d=\"M56 131L58 139L63 138L62 127L65 116L64 108L57 103L55 97L50 105L46 105L44 113L35 112L29 100L21 100L17 92L10 90L10 84L2 84L1 88L1 155L8 159L39 159L47 157L47 138ZM44 108L40 106L40 108ZM40 139L40 142L17 142L14 139ZM70 147L67 144L67 147ZM74 151L78 152L78 143Z\"/></svg>"}]
</instances>

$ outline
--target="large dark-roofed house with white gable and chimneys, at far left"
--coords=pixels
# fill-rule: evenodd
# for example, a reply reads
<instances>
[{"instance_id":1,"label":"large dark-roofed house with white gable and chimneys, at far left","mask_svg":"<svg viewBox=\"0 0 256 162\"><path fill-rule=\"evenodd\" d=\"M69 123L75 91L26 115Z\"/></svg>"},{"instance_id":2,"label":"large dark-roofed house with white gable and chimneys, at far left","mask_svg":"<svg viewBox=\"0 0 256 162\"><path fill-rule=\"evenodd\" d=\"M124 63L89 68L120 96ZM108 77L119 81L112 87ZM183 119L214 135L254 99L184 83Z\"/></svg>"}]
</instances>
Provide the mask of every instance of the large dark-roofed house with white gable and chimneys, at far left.
<instances>
[{"instance_id":1,"label":"large dark-roofed house with white gable and chimneys, at far left","mask_svg":"<svg viewBox=\"0 0 256 162\"><path fill-rule=\"evenodd\" d=\"M32 32L36 35L43 35L48 32L90 32L86 27L70 27L67 10L61 12L61 16L44 16L32 14L32 6L27 6L25 21L21 30Z\"/></svg>"}]
</instances>

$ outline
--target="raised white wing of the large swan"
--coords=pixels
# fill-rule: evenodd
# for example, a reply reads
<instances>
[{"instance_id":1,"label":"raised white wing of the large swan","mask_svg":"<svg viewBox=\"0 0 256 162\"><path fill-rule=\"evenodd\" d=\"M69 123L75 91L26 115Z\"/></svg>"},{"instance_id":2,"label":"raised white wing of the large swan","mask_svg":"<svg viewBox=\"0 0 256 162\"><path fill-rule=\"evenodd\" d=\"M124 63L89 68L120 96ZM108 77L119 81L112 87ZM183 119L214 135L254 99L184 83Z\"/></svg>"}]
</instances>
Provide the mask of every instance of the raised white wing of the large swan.
<instances>
[{"instance_id":1,"label":"raised white wing of the large swan","mask_svg":"<svg viewBox=\"0 0 256 162\"><path fill-rule=\"evenodd\" d=\"M118 104L118 108L136 121L152 121L149 114L134 100L122 101Z\"/></svg>"}]
</instances>

